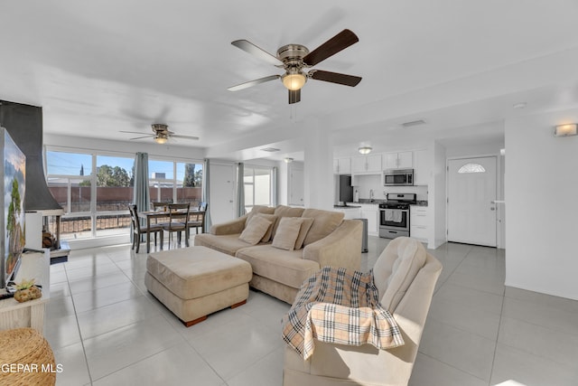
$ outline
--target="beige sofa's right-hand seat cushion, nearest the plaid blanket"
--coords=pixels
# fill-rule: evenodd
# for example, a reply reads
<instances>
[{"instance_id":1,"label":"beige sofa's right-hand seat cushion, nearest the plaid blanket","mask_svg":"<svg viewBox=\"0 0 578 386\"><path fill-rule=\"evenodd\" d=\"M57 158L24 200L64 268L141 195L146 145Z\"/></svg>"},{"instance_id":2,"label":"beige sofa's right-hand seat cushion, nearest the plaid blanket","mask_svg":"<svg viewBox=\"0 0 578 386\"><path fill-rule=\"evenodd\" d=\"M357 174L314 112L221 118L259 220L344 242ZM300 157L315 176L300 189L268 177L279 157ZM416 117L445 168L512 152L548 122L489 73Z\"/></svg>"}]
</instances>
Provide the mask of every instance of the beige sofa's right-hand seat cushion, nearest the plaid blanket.
<instances>
[{"instance_id":1,"label":"beige sofa's right-hand seat cushion, nearest the plaid blanket","mask_svg":"<svg viewBox=\"0 0 578 386\"><path fill-rule=\"evenodd\" d=\"M277 249L271 244L239 249L235 256L250 263L255 275L293 288L301 287L320 268L316 261L302 259L303 250Z\"/></svg>"}]
</instances>

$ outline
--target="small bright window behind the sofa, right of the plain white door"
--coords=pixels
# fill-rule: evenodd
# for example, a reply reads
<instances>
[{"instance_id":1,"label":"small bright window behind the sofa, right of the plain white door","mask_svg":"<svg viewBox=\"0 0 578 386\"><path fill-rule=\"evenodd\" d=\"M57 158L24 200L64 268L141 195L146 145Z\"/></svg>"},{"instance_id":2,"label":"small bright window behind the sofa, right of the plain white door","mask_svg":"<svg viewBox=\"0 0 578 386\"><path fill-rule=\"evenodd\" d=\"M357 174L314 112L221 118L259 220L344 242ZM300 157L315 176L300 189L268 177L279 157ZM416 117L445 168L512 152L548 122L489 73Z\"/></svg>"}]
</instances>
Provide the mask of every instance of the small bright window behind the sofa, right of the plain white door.
<instances>
[{"instance_id":1,"label":"small bright window behind the sofa, right of the plain white door","mask_svg":"<svg viewBox=\"0 0 578 386\"><path fill-rule=\"evenodd\" d=\"M272 205L273 168L245 165L245 209L250 212L254 205Z\"/></svg>"}]
</instances>

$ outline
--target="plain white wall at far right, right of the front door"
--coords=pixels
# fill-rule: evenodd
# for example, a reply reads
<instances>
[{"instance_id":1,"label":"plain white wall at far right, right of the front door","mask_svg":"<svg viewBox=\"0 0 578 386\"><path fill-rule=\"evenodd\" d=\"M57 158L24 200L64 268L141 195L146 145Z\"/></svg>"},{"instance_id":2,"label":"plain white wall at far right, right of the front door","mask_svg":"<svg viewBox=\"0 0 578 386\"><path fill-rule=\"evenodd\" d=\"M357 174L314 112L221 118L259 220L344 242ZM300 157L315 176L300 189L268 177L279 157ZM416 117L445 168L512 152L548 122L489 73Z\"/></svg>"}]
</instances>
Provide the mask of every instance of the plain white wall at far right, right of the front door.
<instances>
[{"instance_id":1,"label":"plain white wall at far right, right of the front door","mask_svg":"<svg viewBox=\"0 0 578 386\"><path fill-rule=\"evenodd\" d=\"M506 122L506 285L578 299L578 109Z\"/></svg>"}]
</instances>

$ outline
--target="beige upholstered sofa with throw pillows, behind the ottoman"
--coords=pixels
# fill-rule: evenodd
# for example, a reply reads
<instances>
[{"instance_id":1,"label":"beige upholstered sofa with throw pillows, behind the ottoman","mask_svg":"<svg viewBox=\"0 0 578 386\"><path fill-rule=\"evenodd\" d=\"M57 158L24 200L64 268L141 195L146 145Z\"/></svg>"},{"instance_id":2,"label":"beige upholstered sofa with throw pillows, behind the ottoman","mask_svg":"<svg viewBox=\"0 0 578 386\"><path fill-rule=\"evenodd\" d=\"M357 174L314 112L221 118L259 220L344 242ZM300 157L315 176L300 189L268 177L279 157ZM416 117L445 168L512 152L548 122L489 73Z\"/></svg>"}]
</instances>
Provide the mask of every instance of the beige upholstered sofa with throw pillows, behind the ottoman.
<instances>
[{"instance_id":1,"label":"beige upholstered sofa with throw pillows, behind the ottoman","mask_svg":"<svg viewBox=\"0 0 578 386\"><path fill-rule=\"evenodd\" d=\"M264 235L257 243L255 240L247 242L247 232L255 228L256 222L262 221L253 217L271 222L267 230L270 235L268 238ZM294 219L282 220L284 218L303 219L297 220L302 221L299 236L304 237L303 247L298 245L300 237L287 243L284 235ZM305 223L311 227L303 226ZM342 212L284 205L275 208L255 206L237 220L213 225L209 233L195 235L194 245L246 260L253 269L251 287L292 304L303 281L320 268L359 270L361 237L361 221L343 220ZM293 243L297 249L286 248Z\"/></svg>"}]
</instances>

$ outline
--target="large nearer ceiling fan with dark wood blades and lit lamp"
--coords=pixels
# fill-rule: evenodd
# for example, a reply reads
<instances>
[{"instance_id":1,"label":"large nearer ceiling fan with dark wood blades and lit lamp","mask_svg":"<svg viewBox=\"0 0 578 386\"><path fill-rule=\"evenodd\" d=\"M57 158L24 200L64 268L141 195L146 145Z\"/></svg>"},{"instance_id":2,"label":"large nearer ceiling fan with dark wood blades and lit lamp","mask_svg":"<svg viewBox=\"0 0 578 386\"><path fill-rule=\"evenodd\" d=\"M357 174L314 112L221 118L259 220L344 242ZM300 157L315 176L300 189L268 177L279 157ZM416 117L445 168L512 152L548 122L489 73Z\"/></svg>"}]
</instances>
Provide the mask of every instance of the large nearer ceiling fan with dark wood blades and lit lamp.
<instances>
[{"instance_id":1,"label":"large nearer ceiling fan with dark wood blades and lit lamp","mask_svg":"<svg viewBox=\"0 0 578 386\"><path fill-rule=\"evenodd\" d=\"M247 89L269 80L281 79L284 87L289 89L289 104L292 104L301 100L301 88L308 79L329 81L331 83L355 87L359 81L361 81L360 77L322 70L303 70L312 68L314 65L348 48L356 42L359 42L357 35L345 29L327 42L322 43L322 45L312 52L309 52L307 47L301 44L287 44L277 50L277 56L266 52L247 40L231 42L235 47L255 55L263 61L267 61L275 67L283 68L285 73L283 75L270 75L265 78L247 81L237 86L229 87L228 90L238 91L239 89Z\"/></svg>"}]
</instances>

